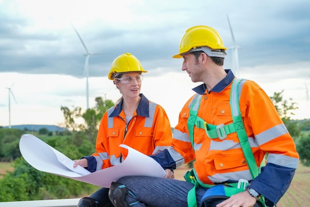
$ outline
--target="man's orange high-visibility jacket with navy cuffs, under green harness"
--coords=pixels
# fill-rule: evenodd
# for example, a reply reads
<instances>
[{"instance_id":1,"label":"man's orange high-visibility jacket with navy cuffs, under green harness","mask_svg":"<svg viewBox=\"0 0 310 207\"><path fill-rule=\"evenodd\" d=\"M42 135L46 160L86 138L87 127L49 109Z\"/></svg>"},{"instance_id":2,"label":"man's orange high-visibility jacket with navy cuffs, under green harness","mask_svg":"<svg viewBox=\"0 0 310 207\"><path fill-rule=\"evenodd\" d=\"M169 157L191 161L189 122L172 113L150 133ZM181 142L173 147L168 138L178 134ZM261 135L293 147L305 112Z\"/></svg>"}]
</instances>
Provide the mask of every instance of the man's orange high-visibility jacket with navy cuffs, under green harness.
<instances>
[{"instance_id":1,"label":"man's orange high-visibility jacket with navy cuffs, under green harness","mask_svg":"<svg viewBox=\"0 0 310 207\"><path fill-rule=\"evenodd\" d=\"M189 136L187 122L195 102L193 99L198 95L201 95L198 117L211 125L233 123L230 90L234 75L231 70L226 72L227 76L211 91L207 91L205 84L193 89L197 94L186 102L179 114L172 147L152 156L164 169L174 169L196 159L197 179L205 184L252 180L237 133L229 134L223 140L208 138L206 131L195 125L194 149ZM268 153L266 166L251 182L251 188L276 203L287 190L297 168L299 155L294 140L272 101L257 83L245 80L239 93L241 116L258 167ZM163 156L166 159L162 159Z\"/></svg>"}]
</instances>

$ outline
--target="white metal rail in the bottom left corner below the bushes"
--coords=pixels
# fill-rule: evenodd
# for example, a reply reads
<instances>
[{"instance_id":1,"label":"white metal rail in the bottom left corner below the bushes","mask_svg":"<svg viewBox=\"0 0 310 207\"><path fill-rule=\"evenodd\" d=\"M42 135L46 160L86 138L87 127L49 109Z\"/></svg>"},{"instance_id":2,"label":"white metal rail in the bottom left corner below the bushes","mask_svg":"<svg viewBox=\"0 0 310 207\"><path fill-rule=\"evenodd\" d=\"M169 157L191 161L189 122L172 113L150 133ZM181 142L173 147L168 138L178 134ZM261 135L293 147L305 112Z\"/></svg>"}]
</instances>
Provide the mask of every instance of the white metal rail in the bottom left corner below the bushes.
<instances>
[{"instance_id":1,"label":"white metal rail in the bottom left corner below the bushes","mask_svg":"<svg viewBox=\"0 0 310 207\"><path fill-rule=\"evenodd\" d=\"M77 207L80 199L0 202L0 207Z\"/></svg>"}]
</instances>

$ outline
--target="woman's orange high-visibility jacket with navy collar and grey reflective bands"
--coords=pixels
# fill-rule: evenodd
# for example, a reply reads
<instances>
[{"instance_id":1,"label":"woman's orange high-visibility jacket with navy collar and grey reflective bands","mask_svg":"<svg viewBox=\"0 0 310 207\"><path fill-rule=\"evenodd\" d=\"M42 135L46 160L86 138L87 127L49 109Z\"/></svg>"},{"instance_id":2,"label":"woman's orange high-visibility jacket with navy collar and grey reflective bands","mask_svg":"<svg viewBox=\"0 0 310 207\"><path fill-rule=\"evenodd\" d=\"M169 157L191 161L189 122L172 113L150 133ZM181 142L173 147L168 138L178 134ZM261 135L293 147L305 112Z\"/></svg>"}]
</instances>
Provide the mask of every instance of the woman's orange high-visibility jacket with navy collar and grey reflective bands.
<instances>
[{"instance_id":1,"label":"woman's orange high-visibility jacket with navy collar and grey reflective bands","mask_svg":"<svg viewBox=\"0 0 310 207\"><path fill-rule=\"evenodd\" d=\"M172 132L165 110L143 94L132 119L126 124L122 101L103 115L96 142L96 153L86 156L88 170L94 172L119 164L126 144L146 155L161 152L171 145Z\"/></svg>"}]
</instances>

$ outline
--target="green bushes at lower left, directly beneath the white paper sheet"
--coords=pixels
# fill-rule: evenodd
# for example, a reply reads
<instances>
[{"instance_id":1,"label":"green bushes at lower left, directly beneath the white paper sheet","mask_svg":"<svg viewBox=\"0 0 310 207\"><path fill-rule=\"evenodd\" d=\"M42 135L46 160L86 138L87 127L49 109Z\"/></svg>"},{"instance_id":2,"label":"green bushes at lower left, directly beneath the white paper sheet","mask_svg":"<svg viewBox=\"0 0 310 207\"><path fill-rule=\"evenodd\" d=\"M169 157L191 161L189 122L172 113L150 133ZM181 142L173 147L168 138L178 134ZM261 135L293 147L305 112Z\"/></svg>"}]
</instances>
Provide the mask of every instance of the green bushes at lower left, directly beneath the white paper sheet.
<instances>
[{"instance_id":1,"label":"green bushes at lower left, directly beneath the white paper sheet","mask_svg":"<svg viewBox=\"0 0 310 207\"><path fill-rule=\"evenodd\" d=\"M14 162L14 172L0 179L0 201L34 201L76 198L90 194L97 186L39 171L22 157Z\"/></svg>"}]
</instances>

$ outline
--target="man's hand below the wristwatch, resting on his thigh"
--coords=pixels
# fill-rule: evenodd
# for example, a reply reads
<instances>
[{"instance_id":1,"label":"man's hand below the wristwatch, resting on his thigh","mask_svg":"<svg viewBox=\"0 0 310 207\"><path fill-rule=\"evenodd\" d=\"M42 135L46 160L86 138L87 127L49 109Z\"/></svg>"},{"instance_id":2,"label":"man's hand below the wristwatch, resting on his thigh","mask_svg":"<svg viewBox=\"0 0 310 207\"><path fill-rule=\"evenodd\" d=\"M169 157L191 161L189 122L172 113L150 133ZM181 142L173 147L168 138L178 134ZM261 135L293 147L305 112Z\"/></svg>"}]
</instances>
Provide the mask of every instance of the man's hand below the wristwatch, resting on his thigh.
<instances>
[{"instance_id":1,"label":"man's hand below the wristwatch, resting on his thigh","mask_svg":"<svg viewBox=\"0 0 310 207\"><path fill-rule=\"evenodd\" d=\"M253 207L256 201L256 198L252 197L248 191L244 191L231 196L216 207Z\"/></svg>"}]
</instances>

